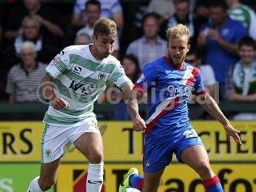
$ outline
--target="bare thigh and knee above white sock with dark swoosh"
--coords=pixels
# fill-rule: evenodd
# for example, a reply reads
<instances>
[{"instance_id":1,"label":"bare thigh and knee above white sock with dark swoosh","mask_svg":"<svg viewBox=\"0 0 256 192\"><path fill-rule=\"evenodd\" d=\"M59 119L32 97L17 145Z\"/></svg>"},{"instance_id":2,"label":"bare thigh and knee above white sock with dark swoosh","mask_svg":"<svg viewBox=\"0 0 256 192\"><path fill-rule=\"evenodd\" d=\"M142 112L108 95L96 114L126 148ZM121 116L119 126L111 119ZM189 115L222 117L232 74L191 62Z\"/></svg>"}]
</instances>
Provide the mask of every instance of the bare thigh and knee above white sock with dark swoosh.
<instances>
[{"instance_id":1,"label":"bare thigh and knee above white sock with dark swoosh","mask_svg":"<svg viewBox=\"0 0 256 192\"><path fill-rule=\"evenodd\" d=\"M85 132L74 141L74 145L90 163L103 161L103 143L100 133Z\"/></svg>"}]
</instances>

